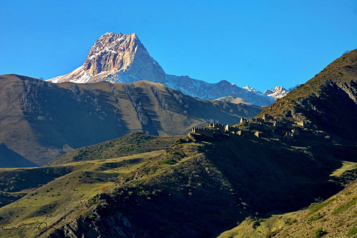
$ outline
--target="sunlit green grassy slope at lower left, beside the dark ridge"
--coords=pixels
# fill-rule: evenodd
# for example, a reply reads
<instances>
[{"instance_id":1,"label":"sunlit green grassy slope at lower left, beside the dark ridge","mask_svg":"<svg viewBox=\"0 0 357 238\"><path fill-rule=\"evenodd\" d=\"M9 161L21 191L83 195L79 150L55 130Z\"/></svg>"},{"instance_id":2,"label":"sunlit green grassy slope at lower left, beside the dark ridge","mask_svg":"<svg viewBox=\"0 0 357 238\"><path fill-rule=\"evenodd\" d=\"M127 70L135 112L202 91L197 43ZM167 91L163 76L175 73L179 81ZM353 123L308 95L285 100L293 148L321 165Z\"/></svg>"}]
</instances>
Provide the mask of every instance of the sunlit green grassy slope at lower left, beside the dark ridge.
<instances>
[{"instance_id":1,"label":"sunlit green grassy slope at lower left, beside the dark ridge","mask_svg":"<svg viewBox=\"0 0 357 238\"><path fill-rule=\"evenodd\" d=\"M84 206L88 199L106 192L106 188L101 190L102 186L110 187L118 179L125 179L128 172L134 171L160 153L162 151L152 151L120 158L73 162L62 166L21 169L29 184L19 184L16 187L22 193L1 192L2 206L12 199L12 203L0 208L1 222L17 225L45 222L48 226L57 223ZM39 171L35 171L36 169L45 169L45 172L38 176ZM49 173L46 173L47 169ZM58 174L59 171L63 173ZM19 169L0 169L0 174L14 176L14 180L20 180L17 178L21 178L21 175L16 176L19 172ZM31 186L31 183L42 181L46 182ZM49 229L48 226L44 231ZM38 237L41 232L35 229L24 234L28 237ZM0 237L19 237L19 234L9 234L2 230Z\"/></svg>"}]
</instances>

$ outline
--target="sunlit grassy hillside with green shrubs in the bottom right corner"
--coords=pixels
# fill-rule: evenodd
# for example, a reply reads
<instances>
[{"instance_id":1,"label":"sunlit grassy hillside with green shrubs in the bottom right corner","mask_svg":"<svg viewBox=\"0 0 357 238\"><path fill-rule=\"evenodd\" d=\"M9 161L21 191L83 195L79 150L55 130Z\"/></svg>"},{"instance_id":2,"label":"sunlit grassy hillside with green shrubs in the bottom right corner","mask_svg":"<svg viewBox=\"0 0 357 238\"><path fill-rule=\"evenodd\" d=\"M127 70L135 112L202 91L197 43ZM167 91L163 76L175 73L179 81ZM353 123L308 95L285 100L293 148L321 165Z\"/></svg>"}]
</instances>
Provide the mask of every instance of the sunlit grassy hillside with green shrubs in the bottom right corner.
<instances>
[{"instance_id":1,"label":"sunlit grassy hillside with green shrubs in the bottom right corner","mask_svg":"<svg viewBox=\"0 0 357 238\"><path fill-rule=\"evenodd\" d=\"M357 236L356 182L346 184L341 192L326 200L316 200L295 212L250 216L217 238L301 238L316 237L318 233L326 238Z\"/></svg>"}]
</instances>

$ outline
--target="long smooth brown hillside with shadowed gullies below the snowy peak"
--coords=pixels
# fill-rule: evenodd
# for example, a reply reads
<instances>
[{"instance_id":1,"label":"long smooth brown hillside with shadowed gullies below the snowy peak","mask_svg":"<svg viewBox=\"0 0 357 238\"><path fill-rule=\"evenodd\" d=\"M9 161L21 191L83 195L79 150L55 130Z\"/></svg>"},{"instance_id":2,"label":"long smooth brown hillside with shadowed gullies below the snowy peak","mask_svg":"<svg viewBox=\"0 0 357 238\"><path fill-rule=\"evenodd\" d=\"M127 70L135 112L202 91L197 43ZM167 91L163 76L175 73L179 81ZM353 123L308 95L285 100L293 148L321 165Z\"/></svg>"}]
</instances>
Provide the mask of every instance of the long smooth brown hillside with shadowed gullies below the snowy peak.
<instances>
[{"instance_id":1,"label":"long smooth brown hillside with shadowed gullies below the snowy peak","mask_svg":"<svg viewBox=\"0 0 357 238\"><path fill-rule=\"evenodd\" d=\"M1 75L0 97L0 159L6 167L43 166L73 149L136 131L185 135L193 126L232 124L259 112L148 81L55 84Z\"/></svg>"}]
</instances>

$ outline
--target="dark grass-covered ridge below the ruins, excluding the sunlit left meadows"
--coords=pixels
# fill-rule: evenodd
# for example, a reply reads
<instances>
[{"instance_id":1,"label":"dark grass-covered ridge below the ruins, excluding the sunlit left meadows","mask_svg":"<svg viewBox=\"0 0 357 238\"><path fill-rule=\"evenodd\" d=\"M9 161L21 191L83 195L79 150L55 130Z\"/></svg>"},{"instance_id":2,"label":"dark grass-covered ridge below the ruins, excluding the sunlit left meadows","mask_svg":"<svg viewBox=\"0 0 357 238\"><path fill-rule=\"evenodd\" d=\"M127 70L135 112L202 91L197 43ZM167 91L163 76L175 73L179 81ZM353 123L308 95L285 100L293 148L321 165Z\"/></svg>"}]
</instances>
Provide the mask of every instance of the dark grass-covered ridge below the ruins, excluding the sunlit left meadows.
<instances>
[{"instance_id":1,"label":"dark grass-covered ridge below the ruins, excluding the sunlit left meadows","mask_svg":"<svg viewBox=\"0 0 357 238\"><path fill-rule=\"evenodd\" d=\"M335 156L337 151L346 152ZM68 214L71 218L59 223L64 227L58 235L67 234L61 224L73 219L76 224L87 225L104 217L118 222L114 217L119 212L139 229L136 232L145 231L150 237L218 236L223 227L237 221L246 223L247 216L287 211L307 206L314 197L330 196L338 189L329 181L330 175L343 166L342 158L353 158L351 153L341 145L326 145L326 140L318 137L283 141L250 134L214 138L190 134L120 175L108 195L89 199L84 207ZM110 169L105 172L110 173ZM325 214L322 209L319 214ZM181 229L182 224L186 229ZM100 223L96 226L104 229L97 236L109 232ZM78 232L84 232L84 227Z\"/></svg>"}]
</instances>

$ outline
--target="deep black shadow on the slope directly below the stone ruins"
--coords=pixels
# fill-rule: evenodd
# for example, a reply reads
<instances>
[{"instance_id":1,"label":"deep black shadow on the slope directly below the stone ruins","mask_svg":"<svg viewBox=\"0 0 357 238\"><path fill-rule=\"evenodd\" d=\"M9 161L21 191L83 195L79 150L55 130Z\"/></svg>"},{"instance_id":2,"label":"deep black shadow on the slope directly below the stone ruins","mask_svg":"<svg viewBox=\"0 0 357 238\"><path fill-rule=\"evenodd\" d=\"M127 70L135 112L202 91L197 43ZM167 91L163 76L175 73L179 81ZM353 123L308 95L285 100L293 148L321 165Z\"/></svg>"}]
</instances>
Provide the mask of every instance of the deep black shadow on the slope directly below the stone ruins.
<instances>
[{"instance_id":1,"label":"deep black shadow on the slope directly below the stone ruins","mask_svg":"<svg viewBox=\"0 0 357 238\"><path fill-rule=\"evenodd\" d=\"M269 142L253 137L222 137L215 145L207 156L224 172L243 201L261 213L295 211L310 205L315 197L336 194L343 187L331 182L330 174L342 167L343 160L357 158L357 150L325 144L320 138Z\"/></svg>"}]
</instances>

